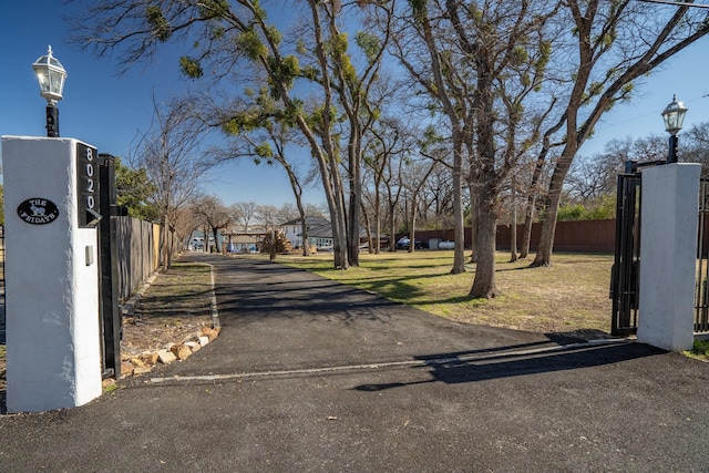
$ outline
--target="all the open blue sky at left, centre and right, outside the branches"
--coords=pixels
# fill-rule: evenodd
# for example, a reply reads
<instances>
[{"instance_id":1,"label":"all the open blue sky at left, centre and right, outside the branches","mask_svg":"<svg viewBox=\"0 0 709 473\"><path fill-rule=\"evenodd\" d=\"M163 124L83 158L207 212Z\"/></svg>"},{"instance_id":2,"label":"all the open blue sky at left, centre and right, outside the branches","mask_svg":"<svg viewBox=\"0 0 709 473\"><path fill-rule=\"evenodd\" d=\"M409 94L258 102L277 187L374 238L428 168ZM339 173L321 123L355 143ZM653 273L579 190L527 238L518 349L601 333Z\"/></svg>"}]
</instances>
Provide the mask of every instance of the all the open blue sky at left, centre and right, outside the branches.
<instances>
[{"instance_id":1,"label":"all the open blue sky at left, centre and right, outside the branches","mask_svg":"<svg viewBox=\"0 0 709 473\"><path fill-rule=\"evenodd\" d=\"M49 44L69 72L64 100L59 104L61 135L88 142L100 152L126 156L138 132L150 124L153 93L160 100L189 85L178 73L179 54L174 49L166 48L155 64L137 65L117 75L115 58L96 59L69 45L61 17L70 14L74 4L68 7L60 0L0 2L0 135L45 135L45 101L39 95L31 65ZM614 137L664 133L660 112L672 94L689 107L686 127L708 121L708 55L709 39L703 39L638 84L633 102L607 114L580 154L600 152ZM280 206L295 202L280 168L256 166L249 161L218 168L205 191L227 205L253 200ZM321 192L311 189L305 200L321 204L325 199Z\"/></svg>"}]
</instances>

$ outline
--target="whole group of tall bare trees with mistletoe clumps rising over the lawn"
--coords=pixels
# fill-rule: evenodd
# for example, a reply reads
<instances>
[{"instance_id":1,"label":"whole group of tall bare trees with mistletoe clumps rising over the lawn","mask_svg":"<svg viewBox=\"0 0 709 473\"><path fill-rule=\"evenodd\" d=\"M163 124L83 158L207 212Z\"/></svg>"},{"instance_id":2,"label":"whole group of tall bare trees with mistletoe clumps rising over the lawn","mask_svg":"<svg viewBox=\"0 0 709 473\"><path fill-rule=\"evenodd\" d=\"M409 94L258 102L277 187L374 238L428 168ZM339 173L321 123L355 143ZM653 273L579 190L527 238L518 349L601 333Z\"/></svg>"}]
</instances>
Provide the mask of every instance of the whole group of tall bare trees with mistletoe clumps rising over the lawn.
<instances>
[{"instance_id":1,"label":"whole group of tall bare trees with mistletoe clumps rising over the lawn","mask_svg":"<svg viewBox=\"0 0 709 473\"><path fill-rule=\"evenodd\" d=\"M370 212L376 222L386 215L392 234L397 216L402 227L415 226L427 222L417 218L425 210L394 207L432 203L432 183L445 183L450 192L435 198L452 214L452 273L465 270L463 227L471 216L470 296L494 297L504 205L523 194L531 226L543 204L533 265L551 264L566 178L583 144L643 78L709 32L707 14L690 3L635 0L106 0L86 2L73 31L78 44L116 53L124 69L150 64L165 43L181 48L176 66L202 92L178 107L174 130L192 140L218 130L227 144L214 155L278 164L296 196L304 176L317 176L337 268L358 265ZM158 132L141 152L167 224L181 194L171 187L184 167L165 165L181 146L194 147L169 131L175 115L155 110ZM403 157L399 145L388 147L397 121L420 125L421 140L409 142ZM427 148L434 136L442 154ZM285 138L310 152L305 174L290 174ZM410 181L419 175L413 165L400 172L425 161L422 182ZM409 199L400 198L404 191Z\"/></svg>"}]
</instances>

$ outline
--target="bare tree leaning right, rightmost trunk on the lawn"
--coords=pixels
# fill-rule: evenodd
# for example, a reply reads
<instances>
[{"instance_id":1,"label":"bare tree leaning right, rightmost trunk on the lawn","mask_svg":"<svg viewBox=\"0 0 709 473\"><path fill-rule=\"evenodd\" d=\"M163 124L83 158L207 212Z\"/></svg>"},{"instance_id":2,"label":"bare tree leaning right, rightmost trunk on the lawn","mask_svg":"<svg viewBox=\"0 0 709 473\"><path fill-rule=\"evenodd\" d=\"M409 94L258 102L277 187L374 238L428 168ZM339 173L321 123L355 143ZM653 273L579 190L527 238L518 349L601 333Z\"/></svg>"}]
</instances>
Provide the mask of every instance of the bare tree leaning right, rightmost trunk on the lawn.
<instances>
[{"instance_id":1,"label":"bare tree leaning right, rightmost trunk on the lawn","mask_svg":"<svg viewBox=\"0 0 709 473\"><path fill-rule=\"evenodd\" d=\"M572 162L603 114L626 101L633 81L709 33L709 13L677 6L665 7L602 0L563 3L574 27L573 49L559 48L557 62L572 78L563 109L565 143L549 181L540 247L532 266L552 264L556 216ZM567 39L567 40L568 40Z\"/></svg>"}]
</instances>

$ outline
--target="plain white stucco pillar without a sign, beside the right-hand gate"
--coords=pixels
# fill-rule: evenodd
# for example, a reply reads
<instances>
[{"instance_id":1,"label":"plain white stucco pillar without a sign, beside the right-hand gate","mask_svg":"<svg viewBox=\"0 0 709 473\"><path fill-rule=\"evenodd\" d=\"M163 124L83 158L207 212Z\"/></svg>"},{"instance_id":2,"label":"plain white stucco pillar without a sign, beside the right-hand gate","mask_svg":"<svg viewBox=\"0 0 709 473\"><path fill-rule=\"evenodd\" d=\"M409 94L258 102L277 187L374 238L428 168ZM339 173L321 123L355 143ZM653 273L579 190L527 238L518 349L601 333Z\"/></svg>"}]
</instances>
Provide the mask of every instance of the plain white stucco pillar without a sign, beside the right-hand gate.
<instances>
[{"instance_id":1,"label":"plain white stucco pillar without a sign, beside the right-hand gate","mask_svg":"<svg viewBox=\"0 0 709 473\"><path fill-rule=\"evenodd\" d=\"M693 342L699 164L643 171L638 341L666 350Z\"/></svg>"}]
</instances>

